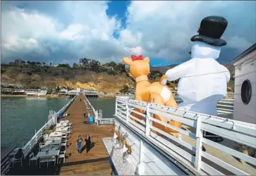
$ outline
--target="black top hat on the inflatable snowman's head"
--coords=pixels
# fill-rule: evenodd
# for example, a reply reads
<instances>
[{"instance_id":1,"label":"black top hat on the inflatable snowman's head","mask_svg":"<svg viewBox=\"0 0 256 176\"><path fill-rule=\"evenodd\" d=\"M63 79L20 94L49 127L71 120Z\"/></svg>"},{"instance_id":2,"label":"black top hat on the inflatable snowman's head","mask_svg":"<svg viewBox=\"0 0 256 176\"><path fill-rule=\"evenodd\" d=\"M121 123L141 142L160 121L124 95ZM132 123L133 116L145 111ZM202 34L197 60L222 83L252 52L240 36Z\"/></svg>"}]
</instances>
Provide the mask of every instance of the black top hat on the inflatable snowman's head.
<instances>
[{"instance_id":1,"label":"black top hat on the inflatable snowman's head","mask_svg":"<svg viewBox=\"0 0 256 176\"><path fill-rule=\"evenodd\" d=\"M226 41L221 35L226 30L228 21L221 16L208 16L202 19L198 34L191 38L192 42L200 41L214 46L225 46Z\"/></svg>"}]
</instances>

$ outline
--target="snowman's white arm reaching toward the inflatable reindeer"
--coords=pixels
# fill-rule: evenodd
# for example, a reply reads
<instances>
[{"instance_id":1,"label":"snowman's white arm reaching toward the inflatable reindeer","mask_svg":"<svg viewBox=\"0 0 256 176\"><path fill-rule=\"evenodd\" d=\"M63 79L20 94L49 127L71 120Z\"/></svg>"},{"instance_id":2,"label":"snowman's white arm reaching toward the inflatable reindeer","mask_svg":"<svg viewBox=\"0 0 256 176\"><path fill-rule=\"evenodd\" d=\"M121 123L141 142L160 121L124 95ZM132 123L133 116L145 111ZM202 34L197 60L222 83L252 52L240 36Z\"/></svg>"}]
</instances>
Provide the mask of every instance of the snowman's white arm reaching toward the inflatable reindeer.
<instances>
[{"instance_id":1,"label":"snowman's white arm reaching toward the inflatable reindeer","mask_svg":"<svg viewBox=\"0 0 256 176\"><path fill-rule=\"evenodd\" d=\"M173 81L173 80L178 80L178 78L180 77L184 77L186 74L190 72L193 66L194 66L194 63L192 61L187 61L185 63L181 63L175 68L167 70L165 73L165 75L167 75L167 80Z\"/></svg>"}]
</instances>

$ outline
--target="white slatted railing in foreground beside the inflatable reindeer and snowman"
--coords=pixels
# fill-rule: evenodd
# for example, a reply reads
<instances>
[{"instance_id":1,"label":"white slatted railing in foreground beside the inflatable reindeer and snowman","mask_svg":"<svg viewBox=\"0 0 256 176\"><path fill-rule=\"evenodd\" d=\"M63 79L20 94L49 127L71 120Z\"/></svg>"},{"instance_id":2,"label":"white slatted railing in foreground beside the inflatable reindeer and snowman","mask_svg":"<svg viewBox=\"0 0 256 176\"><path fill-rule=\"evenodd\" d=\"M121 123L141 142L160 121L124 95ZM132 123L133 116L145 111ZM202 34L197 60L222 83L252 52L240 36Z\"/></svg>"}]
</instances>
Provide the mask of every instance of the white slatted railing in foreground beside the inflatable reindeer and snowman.
<instances>
[{"instance_id":1,"label":"white slatted railing in foreground beside the inflatable reindeer and snowman","mask_svg":"<svg viewBox=\"0 0 256 176\"><path fill-rule=\"evenodd\" d=\"M135 111L135 108L141 111ZM136 118L135 114L140 115L141 118ZM164 116L169 122L170 120L181 122L185 129L157 120L153 115ZM247 149L256 149L254 124L119 97L116 98L115 117L159 146L169 156L176 158L179 163L202 175L226 175L224 170L235 175L249 175L243 170L243 164L239 166L229 162L233 157L256 166L256 158L232 149L234 144L240 144ZM181 138L175 138L160 130L155 127L156 123L178 131ZM230 145L219 144L203 137L204 131L223 137ZM156 132L161 135L157 135ZM202 151L202 144L207 145L207 149L211 150ZM212 153L212 149L217 152Z\"/></svg>"}]
</instances>

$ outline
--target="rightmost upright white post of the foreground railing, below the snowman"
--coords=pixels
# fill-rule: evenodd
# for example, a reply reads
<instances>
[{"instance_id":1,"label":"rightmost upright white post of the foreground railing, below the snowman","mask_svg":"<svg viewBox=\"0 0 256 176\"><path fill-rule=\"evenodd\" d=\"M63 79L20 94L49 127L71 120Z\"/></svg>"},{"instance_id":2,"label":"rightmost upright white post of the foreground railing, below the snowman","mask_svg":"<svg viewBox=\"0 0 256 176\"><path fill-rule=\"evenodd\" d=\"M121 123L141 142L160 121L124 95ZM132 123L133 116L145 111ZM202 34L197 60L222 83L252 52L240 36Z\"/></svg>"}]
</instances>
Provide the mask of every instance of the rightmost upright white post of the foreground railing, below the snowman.
<instances>
[{"instance_id":1,"label":"rightmost upright white post of the foreground railing, below the snowman","mask_svg":"<svg viewBox=\"0 0 256 176\"><path fill-rule=\"evenodd\" d=\"M201 117L197 115L197 129L196 129L196 151L195 151L195 167L197 170L201 168L201 159L202 159L202 130L201 130Z\"/></svg>"}]
</instances>

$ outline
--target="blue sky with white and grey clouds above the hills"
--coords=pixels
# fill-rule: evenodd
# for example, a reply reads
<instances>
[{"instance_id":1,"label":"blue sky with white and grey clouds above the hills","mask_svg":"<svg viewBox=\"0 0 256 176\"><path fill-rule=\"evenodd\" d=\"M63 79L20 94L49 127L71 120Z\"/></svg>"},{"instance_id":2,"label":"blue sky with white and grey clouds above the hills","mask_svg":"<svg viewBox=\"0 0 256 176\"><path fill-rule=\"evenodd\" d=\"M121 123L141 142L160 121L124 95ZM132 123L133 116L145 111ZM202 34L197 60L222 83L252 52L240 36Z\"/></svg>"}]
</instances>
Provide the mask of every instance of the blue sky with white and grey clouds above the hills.
<instances>
[{"instance_id":1,"label":"blue sky with white and grey clouds above the hills","mask_svg":"<svg viewBox=\"0 0 256 176\"><path fill-rule=\"evenodd\" d=\"M182 63L207 15L228 20L219 62L256 42L256 1L1 1L1 62L106 63L142 54Z\"/></svg>"}]
</instances>

